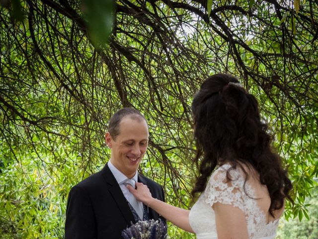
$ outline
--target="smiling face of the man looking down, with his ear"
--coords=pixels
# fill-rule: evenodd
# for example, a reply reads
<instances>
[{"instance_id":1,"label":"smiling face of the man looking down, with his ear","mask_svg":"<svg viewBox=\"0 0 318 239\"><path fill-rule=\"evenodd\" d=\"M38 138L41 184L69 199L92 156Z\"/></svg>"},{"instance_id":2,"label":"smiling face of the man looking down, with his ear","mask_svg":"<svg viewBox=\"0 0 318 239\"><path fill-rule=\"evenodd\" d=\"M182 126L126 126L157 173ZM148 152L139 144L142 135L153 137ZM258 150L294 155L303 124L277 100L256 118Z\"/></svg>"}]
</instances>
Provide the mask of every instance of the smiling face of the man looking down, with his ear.
<instances>
[{"instance_id":1,"label":"smiling face of the man looking down, with his ear","mask_svg":"<svg viewBox=\"0 0 318 239\"><path fill-rule=\"evenodd\" d=\"M144 119L123 118L119 134L114 139L109 132L105 141L111 149L111 163L128 178L132 178L143 159L148 146L148 125Z\"/></svg>"}]
</instances>

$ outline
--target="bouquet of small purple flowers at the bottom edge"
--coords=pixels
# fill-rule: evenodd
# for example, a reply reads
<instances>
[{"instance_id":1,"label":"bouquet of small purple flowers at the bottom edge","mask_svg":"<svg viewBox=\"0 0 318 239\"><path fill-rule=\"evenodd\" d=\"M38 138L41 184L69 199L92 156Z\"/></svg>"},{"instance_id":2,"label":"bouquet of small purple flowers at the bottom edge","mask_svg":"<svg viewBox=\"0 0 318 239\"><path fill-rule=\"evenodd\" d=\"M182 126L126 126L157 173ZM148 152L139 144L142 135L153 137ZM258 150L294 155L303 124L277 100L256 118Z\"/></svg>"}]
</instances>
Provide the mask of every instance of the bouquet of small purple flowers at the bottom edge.
<instances>
[{"instance_id":1,"label":"bouquet of small purple flowers at the bottom edge","mask_svg":"<svg viewBox=\"0 0 318 239\"><path fill-rule=\"evenodd\" d=\"M168 239L167 227L154 219L132 224L121 235L124 239Z\"/></svg>"}]
</instances>

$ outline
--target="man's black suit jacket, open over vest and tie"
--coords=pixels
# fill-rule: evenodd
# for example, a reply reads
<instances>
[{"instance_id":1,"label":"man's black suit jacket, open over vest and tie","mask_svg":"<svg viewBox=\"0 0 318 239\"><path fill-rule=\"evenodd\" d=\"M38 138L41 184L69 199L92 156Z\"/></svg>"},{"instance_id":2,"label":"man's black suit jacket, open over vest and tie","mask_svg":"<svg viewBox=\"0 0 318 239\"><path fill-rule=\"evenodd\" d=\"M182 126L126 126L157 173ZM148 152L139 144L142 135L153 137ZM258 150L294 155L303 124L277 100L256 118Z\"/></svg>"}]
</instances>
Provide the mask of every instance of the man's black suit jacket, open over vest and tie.
<instances>
[{"instance_id":1,"label":"man's black suit jacket, open over vest and tie","mask_svg":"<svg viewBox=\"0 0 318 239\"><path fill-rule=\"evenodd\" d=\"M164 201L162 187L138 174L153 197ZM149 208L151 219L165 220ZM121 232L135 223L115 177L108 165L79 184L69 194L66 209L65 239L122 239Z\"/></svg>"}]
</instances>

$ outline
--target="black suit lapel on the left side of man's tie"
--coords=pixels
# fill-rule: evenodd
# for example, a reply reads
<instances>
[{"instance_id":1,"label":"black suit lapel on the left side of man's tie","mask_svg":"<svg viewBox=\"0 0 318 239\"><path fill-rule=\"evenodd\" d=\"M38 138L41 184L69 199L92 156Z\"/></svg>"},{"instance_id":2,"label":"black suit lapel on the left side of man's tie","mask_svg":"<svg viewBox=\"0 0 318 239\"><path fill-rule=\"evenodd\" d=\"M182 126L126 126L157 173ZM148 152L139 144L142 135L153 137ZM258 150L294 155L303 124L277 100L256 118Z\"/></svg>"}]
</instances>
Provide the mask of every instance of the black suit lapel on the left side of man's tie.
<instances>
[{"instance_id":1,"label":"black suit lapel on the left side of man's tie","mask_svg":"<svg viewBox=\"0 0 318 239\"><path fill-rule=\"evenodd\" d=\"M123 192L121 191L114 175L110 171L108 165L106 164L105 167L102 169L102 174L107 184L107 189L113 200L116 202L119 210L121 211L123 217L125 218L127 225L130 226L131 222L135 223L135 219L133 213L131 212L128 203L126 201Z\"/></svg>"}]
</instances>

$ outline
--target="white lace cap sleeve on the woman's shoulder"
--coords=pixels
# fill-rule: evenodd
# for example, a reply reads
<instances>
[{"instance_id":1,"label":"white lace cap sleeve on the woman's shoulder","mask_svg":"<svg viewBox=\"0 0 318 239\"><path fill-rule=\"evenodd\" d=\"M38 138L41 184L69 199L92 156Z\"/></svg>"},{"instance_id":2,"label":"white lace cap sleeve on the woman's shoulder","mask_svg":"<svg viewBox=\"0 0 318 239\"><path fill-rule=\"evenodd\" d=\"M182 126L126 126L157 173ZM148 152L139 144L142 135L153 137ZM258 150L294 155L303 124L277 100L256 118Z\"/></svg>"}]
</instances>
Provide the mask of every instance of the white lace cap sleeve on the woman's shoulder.
<instances>
[{"instance_id":1,"label":"white lace cap sleeve on the woman's shoulder","mask_svg":"<svg viewBox=\"0 0 318 239\"><path fill-rule=\"evenodd\" d=\"M215 203L222 203L238 207L244 211L242 193L244 178L237 169L231 169L227 178L227 170L230 165L219 167L210 177L205 192L205 202L212 206Z\"/></svg>"}]
</instances>

